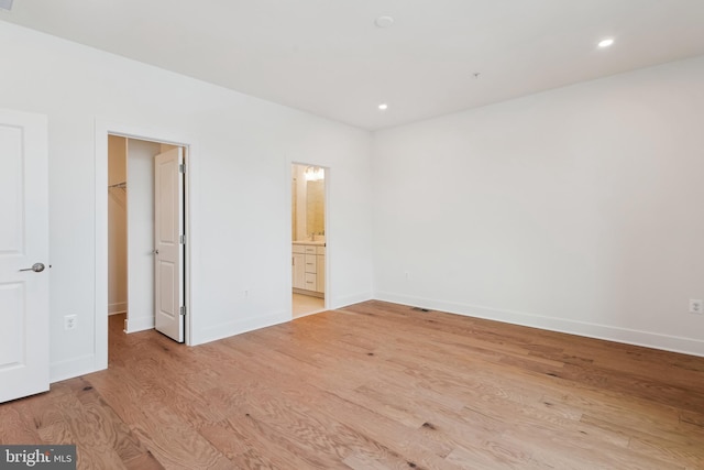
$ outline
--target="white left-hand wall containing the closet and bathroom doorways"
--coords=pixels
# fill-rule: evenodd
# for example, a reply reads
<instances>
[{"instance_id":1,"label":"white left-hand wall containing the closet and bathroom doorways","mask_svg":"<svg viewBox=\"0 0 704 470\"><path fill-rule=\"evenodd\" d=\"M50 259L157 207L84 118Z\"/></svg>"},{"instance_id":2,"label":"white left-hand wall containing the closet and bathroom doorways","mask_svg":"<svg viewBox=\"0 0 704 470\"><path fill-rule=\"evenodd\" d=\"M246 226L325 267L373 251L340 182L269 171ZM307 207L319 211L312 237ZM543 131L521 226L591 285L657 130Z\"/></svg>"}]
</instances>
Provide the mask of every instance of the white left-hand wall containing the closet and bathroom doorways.
<instances>
[{"instance_id":1,"label":"white left-hand wall containing the closet and bathroom doorways","mask_svg":"<svg viewBox=\"0 0 704 470\"><path fill-rule=\"evenodd\" d=\"M48 116L53 381L100 367L97 120L197 140L195 343L290 319L292 161L331 168L331 306L371 297L367 132L4 22L0 43L0 107Z\"/></svg>"}]
</instances>

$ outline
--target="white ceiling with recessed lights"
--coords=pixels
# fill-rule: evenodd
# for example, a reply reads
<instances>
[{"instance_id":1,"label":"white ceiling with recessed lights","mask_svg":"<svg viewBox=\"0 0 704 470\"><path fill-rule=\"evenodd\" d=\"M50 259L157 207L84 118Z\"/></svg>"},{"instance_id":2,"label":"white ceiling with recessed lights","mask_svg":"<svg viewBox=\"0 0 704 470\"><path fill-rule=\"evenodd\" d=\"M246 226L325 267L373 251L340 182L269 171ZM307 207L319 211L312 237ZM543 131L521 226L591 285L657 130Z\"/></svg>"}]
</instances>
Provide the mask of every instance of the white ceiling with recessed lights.
<instances>
[{"instance_id":1,"label":"white ceiling with recessed lights","mask_svg":"<svg viewBox=\"0 0 704 470\"><path fill-rule=\"evenodd\" d=\"M0 20L365 129L704 54L704 0L15 0Z\"/></svg>"}]
</instances>

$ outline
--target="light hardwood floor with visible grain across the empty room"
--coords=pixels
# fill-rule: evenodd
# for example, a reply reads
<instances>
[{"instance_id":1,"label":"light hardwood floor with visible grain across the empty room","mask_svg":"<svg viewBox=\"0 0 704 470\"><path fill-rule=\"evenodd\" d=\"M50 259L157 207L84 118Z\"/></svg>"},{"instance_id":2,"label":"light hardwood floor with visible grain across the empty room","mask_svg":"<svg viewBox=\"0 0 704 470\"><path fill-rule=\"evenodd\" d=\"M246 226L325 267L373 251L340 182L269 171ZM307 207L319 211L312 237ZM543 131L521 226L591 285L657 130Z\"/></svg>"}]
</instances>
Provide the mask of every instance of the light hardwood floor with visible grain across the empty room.
<instances>
[{"instance_id":1,"label":"light hardwood floor with visible grain across the empty room","mask_svg":"<svg viewBox=\"0 0 704 470\"><path fill-rule=\"evenodd\" d=\"M195 348L111 317L110 368L0 405L94 469L703 469L704 359L366 302Z\"/></svg>"}]
</instances>

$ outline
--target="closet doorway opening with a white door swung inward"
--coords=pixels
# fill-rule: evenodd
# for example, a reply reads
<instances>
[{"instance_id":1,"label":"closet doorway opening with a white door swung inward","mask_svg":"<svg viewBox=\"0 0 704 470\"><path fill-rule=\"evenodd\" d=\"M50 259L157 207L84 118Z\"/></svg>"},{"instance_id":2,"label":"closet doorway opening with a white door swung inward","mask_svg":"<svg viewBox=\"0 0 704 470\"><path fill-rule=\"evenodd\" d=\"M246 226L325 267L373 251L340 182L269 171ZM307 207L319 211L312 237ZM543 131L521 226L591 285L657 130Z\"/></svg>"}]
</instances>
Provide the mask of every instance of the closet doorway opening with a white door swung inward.
<instances>
[{"instance_id":1,"label":"closet doorway opening with a white door swung inward","mask_svg":"<svg viewBox=\"0 0 704 470\"><path fill-rule=\"evenodd\" d=\"M108 313L127 334L185 339L186 153L108 135Z\"/></svg>"}]
</instances>

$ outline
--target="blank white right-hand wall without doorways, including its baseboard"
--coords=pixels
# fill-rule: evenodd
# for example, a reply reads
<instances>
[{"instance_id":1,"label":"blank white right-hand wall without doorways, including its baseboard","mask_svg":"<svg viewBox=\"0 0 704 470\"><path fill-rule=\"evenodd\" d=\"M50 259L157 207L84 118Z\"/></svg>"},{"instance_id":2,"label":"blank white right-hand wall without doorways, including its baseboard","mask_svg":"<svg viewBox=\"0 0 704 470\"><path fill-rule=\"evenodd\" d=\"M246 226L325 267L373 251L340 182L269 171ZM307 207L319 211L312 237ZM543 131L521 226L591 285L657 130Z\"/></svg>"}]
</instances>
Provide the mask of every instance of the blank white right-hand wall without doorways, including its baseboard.
<instances>
[{"instance_id":1,"label":"blank white right-hand wall without doorways, including its baseboard","mask_svg":"<svg viewBox=\"0 0 704 470\"><path fill-rule=\"evenodd\" d=\"M704 354L703 123L698 57L376 132L375 296Z\"/></svg>"}]
</instances>

